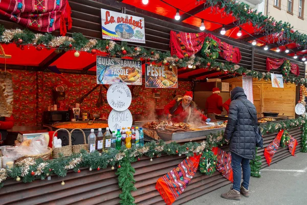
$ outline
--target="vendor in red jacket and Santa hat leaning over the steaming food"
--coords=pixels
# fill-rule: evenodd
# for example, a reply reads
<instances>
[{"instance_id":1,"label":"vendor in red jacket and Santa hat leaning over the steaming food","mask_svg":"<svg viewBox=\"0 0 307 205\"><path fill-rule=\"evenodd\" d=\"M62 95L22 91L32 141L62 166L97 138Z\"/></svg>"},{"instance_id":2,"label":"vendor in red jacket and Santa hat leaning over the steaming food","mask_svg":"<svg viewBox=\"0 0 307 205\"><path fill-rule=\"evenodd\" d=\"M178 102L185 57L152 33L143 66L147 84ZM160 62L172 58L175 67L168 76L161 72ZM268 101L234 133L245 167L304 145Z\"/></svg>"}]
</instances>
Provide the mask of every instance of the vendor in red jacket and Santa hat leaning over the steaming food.
<instances>
[{"instance_id":1,"label":"vendor in red jacket and Santa hat leaning over the steaming food","mask_svg":"<svg viewBox=\"0 0 307 205\"><path fill-rule=\"evenodd\" d=\"M193 92L187 91L183 97L173 99L164 107L164 113L171 117L173 122L188 122L191 114L199 117L206 122L210 119L196 110L196 104L192 101Z\"/></svg>"}]
</instances>

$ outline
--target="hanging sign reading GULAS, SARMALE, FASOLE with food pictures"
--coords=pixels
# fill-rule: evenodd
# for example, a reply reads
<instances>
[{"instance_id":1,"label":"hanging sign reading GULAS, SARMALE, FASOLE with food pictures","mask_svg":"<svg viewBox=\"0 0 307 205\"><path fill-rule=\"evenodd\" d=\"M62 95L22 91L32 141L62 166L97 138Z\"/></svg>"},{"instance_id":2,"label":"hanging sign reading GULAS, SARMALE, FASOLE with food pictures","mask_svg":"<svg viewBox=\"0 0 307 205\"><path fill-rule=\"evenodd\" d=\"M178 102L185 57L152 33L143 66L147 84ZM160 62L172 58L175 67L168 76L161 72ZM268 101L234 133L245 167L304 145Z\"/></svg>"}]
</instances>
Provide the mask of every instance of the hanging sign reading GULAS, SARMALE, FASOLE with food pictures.
<instances>
[{"instance_id":1,"label":"hanging sign reading GULAS, SARMALE, FASOLE with food pictures","mask_svg":"<svg viewBox=\"0 0 307 205\"><path fill-rule=\"evenodd\" d=\"M97 84L123 82L128 85L142 85L141 61L97 56L96 67Z\"/></svg>"}]
</instances>

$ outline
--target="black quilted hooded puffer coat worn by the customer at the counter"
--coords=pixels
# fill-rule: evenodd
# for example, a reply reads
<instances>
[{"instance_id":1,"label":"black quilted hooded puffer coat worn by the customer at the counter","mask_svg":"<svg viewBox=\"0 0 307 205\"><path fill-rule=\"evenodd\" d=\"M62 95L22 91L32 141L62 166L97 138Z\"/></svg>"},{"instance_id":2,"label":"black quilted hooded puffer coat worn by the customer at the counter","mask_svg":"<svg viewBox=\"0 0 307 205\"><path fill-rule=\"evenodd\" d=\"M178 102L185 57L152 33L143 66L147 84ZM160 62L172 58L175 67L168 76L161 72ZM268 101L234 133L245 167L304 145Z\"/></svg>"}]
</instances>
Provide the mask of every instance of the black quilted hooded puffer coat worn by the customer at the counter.
<instances>
[{"instance_id":1,"label":"black quilted hooded puffer coat worn by the customer at the counter","mask_svg":"<svg viewBox=\"0 0 307 205\"><path fill-rule=\"evenodd\" d=\"M249 101L243 88L236 87L231 91L231 103L229 106L228 123L225 129L224 138L230 139L230 151L243 158L253 159L255 157L256 134L253 126L251 113L257 119L255 106Z\"/></svg>"}]
</instances>

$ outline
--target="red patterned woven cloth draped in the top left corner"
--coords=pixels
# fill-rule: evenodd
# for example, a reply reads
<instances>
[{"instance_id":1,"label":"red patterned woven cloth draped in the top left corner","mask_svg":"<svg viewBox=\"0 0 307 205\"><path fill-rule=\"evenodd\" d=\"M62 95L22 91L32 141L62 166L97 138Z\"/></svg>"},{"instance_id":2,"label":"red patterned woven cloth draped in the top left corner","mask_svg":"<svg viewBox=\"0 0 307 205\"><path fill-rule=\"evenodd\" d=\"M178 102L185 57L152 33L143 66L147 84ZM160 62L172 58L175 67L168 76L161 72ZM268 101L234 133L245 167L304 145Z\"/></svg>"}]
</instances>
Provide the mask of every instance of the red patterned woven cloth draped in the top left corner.
<instances>
[{"instance_id":1,"label":"red patterned woven cloth draped in the top left corner","mask_svg":"<svg viewBox=\"0 0 307 205\"><path fill-rule=\"evenodd\" d=\"M52 32L60 29L61 35L72 27L68 0L2 0L0 14L27 28Z\"/></svg>"}]
</instances>

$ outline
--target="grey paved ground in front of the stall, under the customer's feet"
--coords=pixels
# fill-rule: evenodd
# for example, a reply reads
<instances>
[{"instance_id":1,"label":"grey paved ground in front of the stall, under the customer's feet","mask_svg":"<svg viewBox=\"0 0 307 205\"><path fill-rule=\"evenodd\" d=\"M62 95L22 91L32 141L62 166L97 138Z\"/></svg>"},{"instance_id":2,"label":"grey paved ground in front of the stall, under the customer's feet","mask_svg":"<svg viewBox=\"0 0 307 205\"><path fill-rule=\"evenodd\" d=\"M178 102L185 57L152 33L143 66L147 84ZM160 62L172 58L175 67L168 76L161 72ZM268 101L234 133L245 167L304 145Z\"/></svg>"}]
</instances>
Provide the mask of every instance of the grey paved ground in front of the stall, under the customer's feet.
<instances>
[{"instance_id":1,"label":"grey paved ground in front of the stall, under the customer's feet","mask_svg":"<svg viewBox=\"0 0 307 205\"><path fill-rule=\"evenodd\" d=\"M231 185L193 199L184 205L306 205L307 204L307 153L298 153L270 167L262 169L261 177L251 177L250 197L240 201L227 200L221 194Z\"/></svg>"}]
</instances>

